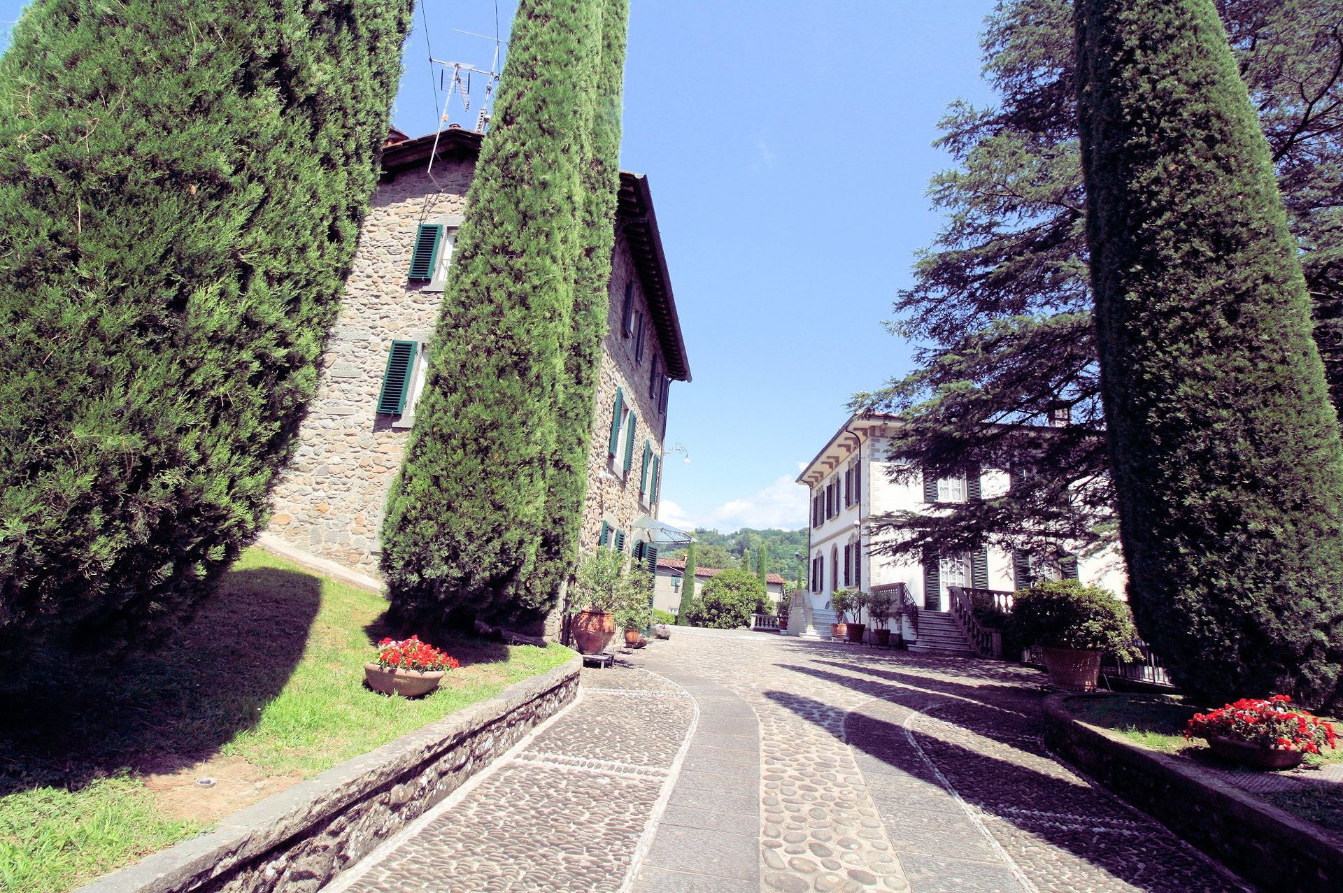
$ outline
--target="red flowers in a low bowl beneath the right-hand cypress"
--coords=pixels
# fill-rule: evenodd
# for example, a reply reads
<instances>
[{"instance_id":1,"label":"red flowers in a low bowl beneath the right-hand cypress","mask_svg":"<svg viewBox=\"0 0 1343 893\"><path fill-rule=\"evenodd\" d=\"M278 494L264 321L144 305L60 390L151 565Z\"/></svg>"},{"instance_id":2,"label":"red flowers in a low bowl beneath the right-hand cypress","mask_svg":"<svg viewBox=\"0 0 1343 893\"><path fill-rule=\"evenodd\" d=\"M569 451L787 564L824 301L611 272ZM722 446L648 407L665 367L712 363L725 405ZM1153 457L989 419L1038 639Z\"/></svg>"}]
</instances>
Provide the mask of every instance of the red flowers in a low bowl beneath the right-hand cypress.
<instances>
[{"instance_id":1,"label":"red flowers in a low bowl beneath the right-hand cypress","mask_svg":"<svg viewBox=\"0 0 1343 893\"><path fill-rule=\"evenodd\" d=\"M1305 710L1293 710L1292 698L1275 694L1266 701L1241 698L1211 713L1195 713L1185 737L1207 741L1222 759L1256 769L1289 769L1307 753L1335 747L1334 726Z\"/></svg>"}]
</instances>

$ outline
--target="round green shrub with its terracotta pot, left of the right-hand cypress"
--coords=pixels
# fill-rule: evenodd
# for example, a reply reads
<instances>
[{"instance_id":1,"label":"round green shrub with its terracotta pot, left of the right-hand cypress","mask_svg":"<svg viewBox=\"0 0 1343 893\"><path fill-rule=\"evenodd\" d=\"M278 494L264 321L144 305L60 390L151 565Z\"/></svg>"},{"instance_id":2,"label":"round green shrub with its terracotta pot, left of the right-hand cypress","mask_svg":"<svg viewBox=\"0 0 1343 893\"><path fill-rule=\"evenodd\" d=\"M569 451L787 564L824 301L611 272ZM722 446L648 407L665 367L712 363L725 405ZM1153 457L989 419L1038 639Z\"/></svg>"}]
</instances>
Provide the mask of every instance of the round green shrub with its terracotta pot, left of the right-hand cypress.
<instances>
[{"instance_id":1,"label":"round green shrub with its terracotta pot, left of the right-hand cypress","mask_svg":"<svg viewBox=\"0 0 1343 893\"><path fill-rule=\"evenodd\" d=\"M1103 653L1128 661L1139 657L1128 606L1077 580L1048 580L1018 594L1011 632L1023 646L1038 645L1049 681L1070 692L1096 688Z\"/></svg>"}]
</instances>

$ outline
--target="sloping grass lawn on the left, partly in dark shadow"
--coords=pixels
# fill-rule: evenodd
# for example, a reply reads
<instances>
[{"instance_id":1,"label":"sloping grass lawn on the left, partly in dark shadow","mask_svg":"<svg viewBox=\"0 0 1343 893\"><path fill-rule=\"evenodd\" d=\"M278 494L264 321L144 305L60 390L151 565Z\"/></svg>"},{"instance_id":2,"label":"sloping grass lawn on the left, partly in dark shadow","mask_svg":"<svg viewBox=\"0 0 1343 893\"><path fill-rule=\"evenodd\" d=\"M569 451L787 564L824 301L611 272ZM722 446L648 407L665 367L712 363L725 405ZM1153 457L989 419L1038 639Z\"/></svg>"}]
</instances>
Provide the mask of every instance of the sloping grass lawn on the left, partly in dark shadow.
<instances>
[{"instance_id":1,"label":"sloping grass lawn on the left, partly in dark shadow","mask_svg":"<svg viewBox=\"0 0 1343 893\"><path fill-rule=\"evenodd\" d=\"M68 686L7 679L0 890L71 889L572 654L422 630L462 666L434 694L388 698L363 684L385 607L248 549L150 655Z\"/></svg>"}]
</instances>

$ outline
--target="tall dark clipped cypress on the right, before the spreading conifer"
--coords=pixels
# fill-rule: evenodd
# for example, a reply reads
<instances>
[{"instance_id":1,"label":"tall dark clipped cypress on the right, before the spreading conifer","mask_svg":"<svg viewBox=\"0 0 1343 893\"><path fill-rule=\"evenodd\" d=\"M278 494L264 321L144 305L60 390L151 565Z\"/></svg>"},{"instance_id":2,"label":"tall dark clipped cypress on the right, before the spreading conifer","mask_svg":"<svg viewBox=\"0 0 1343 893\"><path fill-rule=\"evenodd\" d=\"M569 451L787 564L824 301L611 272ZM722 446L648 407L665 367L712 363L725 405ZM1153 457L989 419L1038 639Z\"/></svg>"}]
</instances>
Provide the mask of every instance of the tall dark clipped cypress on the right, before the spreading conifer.
<instances>
[{"instance_id":1,"label":"tall dark clipped cypress on the right, before the spreading conifer","mask_svg":"<svg viewBox=\"0 0 1343 893\"><path fill-rule=\"evenodd\" d=\"M1195 697L1336 698L1343 449L1211 0L1080 0L1101 395L1129 600Z\"/></svg>"}]
</instances>

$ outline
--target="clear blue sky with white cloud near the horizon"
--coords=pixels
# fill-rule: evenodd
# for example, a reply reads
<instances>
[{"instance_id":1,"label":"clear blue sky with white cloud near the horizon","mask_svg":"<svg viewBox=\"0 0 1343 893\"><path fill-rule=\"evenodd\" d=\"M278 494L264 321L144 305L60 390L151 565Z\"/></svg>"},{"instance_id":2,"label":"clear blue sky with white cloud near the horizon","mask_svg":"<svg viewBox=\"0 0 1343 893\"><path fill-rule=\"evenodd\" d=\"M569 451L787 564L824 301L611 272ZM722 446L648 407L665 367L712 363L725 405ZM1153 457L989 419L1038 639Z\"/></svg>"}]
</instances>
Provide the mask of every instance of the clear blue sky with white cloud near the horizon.
<instances>
[{"instance_id":1,"label":"clear blue sky with white cloud near the horizon","mask_svg":"<svg viewBox=\"0 0 1343 893\"><path fill-rule=\"evenodd\" d=\"M0 0L0 23L24 4ZM649 176L694 381L674 384L662 517L800 528L792 479L855 392L909 367L881 325L939 228L929 144L947 105L987 103L990 0L633 0L622 167ZM498 7L506 38L514 4ZM438 118L438 59L488 68L493 0L428 0L392 110ZM0 43L8 26L0 24ZM473 124L482 79L473 77Z\"/></svg>"}]
</instances>

